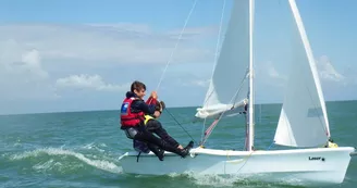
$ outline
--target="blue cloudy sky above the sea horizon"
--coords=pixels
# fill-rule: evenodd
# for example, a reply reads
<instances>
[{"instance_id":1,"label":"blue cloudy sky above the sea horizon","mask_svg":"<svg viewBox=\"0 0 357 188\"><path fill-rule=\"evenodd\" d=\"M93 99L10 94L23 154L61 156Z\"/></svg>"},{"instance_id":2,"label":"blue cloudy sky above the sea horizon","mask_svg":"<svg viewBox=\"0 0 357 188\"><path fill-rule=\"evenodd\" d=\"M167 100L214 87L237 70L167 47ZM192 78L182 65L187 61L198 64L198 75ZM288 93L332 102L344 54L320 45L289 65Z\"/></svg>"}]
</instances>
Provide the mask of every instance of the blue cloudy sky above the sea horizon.
<instances>
[{"instance_id":1,"label":"blue cloudy sky above the sea horizon","mask_svg":"<svg viewBox=\"0 0 357 188\"><path fill-rule=\"evenodd\" d=\"M133 80L168 106L201 105L233 0L0 0L0 114L118 110ZM327 100L357 99L354 0L297 0ZM256 102L281 102L291 12L256 0Z\"/></svg>"}]
</instances>

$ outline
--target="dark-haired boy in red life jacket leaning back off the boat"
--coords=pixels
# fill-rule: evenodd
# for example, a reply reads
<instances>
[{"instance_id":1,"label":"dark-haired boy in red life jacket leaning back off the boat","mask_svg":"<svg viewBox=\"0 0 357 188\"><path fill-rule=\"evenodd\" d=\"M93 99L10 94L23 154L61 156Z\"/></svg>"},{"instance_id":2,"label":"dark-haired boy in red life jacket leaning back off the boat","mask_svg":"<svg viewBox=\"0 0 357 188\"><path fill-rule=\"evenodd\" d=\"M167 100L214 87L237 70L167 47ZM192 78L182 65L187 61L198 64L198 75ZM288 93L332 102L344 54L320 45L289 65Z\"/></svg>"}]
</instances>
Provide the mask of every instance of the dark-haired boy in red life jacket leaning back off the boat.
<instances>
[{"instance_id":1,"label":"dark-haired boy in red life jacket leaning back off the boat","mask_svg":"<svg viewBox=\"0 0 357 188\"><path fill-rule=\"evenodd\" d=\"M138 141L144 141L148 145L149 149L162 161L163 152L158 150L156 147L162 148L165 151L170 151L185 158L188 154L187 149L180 149L171 146L163 139L160 139L152 135L152 133L146 130L144 125L144 114L149 114L153 116L160 115L160 112L155 111L157 103L157 93L153 91L150 96L150 104L146 103L143 98L145 97L146 86L140 82L134 82L131 86L131 91L126 92L126 98L124 99L121 106L121 129L126 134L130 139L135 139Z\"/></svg>"}]
</instances>

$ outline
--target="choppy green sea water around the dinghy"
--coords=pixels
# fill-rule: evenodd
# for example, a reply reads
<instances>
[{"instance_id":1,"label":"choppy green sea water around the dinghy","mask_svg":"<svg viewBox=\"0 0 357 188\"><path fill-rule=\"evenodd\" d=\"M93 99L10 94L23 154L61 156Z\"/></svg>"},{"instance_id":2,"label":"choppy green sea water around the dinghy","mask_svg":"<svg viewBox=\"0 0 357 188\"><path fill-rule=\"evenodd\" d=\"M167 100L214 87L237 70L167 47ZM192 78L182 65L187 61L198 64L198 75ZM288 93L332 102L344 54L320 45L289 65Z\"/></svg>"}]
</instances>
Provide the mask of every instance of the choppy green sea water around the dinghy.
<instances>
[{"instance_id":1,"label":"choppy green sea water around the dinghy","mask_svg":"<svg viewBox=\"0 0 357 188\"><path fill-rule=\"evenodd\" d=\"M327 105L334 141L338 146L357 147L357 101ZM280 108L280 104L256 106L257 149L271 146ZM202 123L187 124L195 110L169 109L178 122L186 123L183 127L198 141ZM190 140L168 113L160 121L182 145ZM132 150L132 141L120 130L118 122L119 111L0 115L0 187L294 187L287 183L274 185L221 176L124 174L118 158ZM244 130L242 116L222 120L206 147L242 150ZM356 186L357 156L354 156L338 187Z\"/></svg>"}]
</instances>

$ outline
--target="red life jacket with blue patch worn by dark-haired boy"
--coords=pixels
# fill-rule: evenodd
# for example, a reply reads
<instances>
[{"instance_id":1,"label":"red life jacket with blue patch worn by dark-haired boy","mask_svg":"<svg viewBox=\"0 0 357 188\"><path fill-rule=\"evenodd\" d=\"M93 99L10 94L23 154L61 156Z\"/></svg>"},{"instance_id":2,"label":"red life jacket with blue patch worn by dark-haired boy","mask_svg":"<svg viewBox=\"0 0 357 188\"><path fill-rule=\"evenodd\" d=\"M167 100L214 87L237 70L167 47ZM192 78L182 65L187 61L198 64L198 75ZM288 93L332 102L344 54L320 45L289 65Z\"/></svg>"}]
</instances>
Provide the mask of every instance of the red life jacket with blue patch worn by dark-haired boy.
<instances>
[{"instance_id":1,"label":"red life jacket with blue patch worn by dark-haired boy","mask_svg":"<svg viewBox=\"0 0 357 188\"><path fill-rule=\"evenodd\" d=\"M134 127L144 121L144 112L133 113L131 111L131 106L134 100L137 99L126 98L123 101L120 115L122 127Z\"/></svg>"}]
</instances>

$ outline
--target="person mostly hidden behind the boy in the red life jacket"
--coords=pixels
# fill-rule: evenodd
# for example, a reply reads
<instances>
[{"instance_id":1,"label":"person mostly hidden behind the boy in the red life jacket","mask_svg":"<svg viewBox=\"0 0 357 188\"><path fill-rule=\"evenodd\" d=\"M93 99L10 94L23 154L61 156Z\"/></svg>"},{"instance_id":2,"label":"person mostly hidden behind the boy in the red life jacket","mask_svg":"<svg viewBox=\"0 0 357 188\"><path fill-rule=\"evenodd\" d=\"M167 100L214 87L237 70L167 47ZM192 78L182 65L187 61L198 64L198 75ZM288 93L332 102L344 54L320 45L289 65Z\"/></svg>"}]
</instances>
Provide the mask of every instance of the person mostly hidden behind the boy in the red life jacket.
<instances>
[{"instance_id":1,"label":"person mostly hidden behind the boy in the red life jacket","mask_svg":"<svg viewBox=\"0 0 357 188\"><path fill-rule=\"evenodd\" d=\"M156 112L159 112L159 114L161 115L162 111L164 110L165 104L163 101L160 101L157 103L156 105ZM163 139L164 141L167 141L169 145L176 147L178 149L185 149L185 150L190 150L194 147L194 141L189 141L189 143L183 148L182 145L180 145L174 138L172 138L168 131L162 127L161 123L157 120L160 117L159 116L151 116L151 115L145 115L145 127L148 131L157 135L158 137L160 137L161 139ZM159 148L158 146L150 146L152 143L146 143L143 141L138 141L138 140L133 140L133 147L136 151L138 152L145 152L148 153L150 151L149 148L157 148L157 150L159 150L159 152L163 152L161 148ZM162 161L162 160L161 160Z\"/></svg>"}]
</instances>

